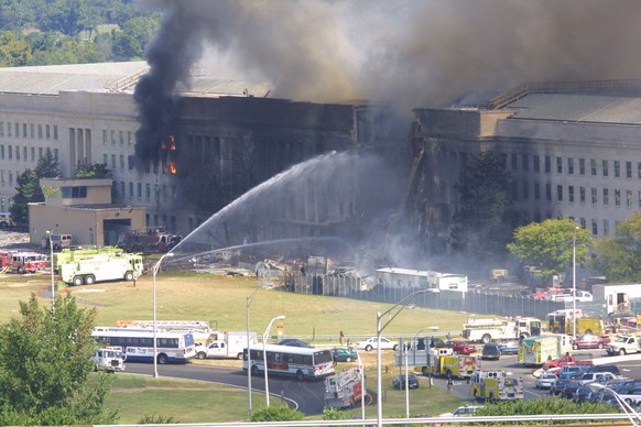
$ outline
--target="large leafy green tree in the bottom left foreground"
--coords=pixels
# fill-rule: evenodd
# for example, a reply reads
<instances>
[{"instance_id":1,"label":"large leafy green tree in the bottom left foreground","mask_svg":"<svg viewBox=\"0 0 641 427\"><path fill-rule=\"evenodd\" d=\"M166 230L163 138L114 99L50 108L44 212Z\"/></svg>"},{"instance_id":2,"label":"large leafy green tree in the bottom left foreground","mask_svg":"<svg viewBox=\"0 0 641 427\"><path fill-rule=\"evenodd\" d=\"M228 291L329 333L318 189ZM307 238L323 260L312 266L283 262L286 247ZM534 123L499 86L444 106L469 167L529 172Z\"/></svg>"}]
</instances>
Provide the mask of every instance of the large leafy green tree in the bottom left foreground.
<instances>
[{"instance_id":1,"label":"large leafy green tree in the bottom left foreground","mask_svg":"<svg viewBox=\"0 0 641 427\"><path fill-rule=\"evenodd\" d=\"M70 295L40 307L32 294L20 316L0 326L0 425L115 424L104 406L108 375L87 381L96 309L79 309Z\"/></svg>"}]
</instances>

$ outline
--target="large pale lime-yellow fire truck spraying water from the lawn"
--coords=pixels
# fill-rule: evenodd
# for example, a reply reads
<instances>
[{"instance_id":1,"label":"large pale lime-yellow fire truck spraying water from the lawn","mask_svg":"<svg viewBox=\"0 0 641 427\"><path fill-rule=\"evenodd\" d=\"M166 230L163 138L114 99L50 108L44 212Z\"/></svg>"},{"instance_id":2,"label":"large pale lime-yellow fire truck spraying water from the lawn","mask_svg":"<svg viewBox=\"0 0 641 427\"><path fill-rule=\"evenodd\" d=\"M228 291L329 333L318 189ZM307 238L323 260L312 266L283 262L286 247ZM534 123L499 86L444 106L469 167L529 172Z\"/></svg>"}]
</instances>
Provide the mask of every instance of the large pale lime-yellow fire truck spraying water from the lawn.
<instances>
[{"instance_id":1,"label":"large pale lime-yellow fire truck spraying water from the lawn","mask_svg":"<svg viewBox=\"0 0 641 427\"><path fill-rule=\"evenodd\" d=\"M58 265L62 281L75 286L107 281L134 281L142 274L142 255L134 253L100 253Z\"/></svg>"}]
</instances>

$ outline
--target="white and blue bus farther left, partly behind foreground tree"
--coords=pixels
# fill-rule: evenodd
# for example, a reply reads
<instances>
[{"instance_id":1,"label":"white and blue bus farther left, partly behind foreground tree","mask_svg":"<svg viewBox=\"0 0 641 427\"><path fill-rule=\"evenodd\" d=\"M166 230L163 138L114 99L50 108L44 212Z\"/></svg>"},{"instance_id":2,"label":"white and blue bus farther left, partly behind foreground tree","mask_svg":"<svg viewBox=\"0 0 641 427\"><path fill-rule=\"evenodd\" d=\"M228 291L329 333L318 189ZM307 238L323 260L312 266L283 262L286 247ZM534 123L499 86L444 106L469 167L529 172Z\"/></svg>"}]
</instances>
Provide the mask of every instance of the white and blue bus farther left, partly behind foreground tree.
<instances>
[{"instance_id":1,"label":"white and blue bus farther left, partly behind foreground tree","mask_svg":"<svg viewBox=\"0 0 641 427\"><path fill-rule=\"evenodd\" d=\"M128 362L153 362L153 329L96 328L91 336L100 346L121 347ZM196 355L192 333L156 330L157 363L185 363Z\"/></svg>"}]
</instances>

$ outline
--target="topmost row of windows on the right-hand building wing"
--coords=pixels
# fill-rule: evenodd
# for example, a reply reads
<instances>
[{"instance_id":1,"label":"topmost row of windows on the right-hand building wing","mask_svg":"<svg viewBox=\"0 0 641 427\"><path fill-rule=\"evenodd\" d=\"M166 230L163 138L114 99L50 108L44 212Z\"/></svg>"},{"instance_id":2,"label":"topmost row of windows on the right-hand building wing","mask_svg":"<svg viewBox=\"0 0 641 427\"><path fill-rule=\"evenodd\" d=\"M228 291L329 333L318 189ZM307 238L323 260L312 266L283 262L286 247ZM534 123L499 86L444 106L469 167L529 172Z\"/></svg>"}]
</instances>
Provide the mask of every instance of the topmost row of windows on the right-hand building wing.
<instances>
[{"instance_id":1,"label":"topmost row of windows on the right-hand building wing","mask_svg":"<svg viewBox=\"0 0 641 427\"><path fill-rule=\"evenodd\" d=\"M521 162L519 162L521 156ZM531 158L530 158L531 157ZM631 161L608 161L595 158L573 158L573 157L553 157L551 155L542 156L534 154L512 154L510 157L510 167L512 171L530 172L530 167L534 173L541 173L542 166L546 174L552 173L552 160L555 160L554 168L557 174L567 175L589 175L589 176L610 176L610 171L616 178L632 178L634 175L641 179L641 162ZM521 167L519 168L519 163ZM542 164L543 163L543 164ZM600 173L600 175L599 175Z\"/></svg>"}]
</instances>

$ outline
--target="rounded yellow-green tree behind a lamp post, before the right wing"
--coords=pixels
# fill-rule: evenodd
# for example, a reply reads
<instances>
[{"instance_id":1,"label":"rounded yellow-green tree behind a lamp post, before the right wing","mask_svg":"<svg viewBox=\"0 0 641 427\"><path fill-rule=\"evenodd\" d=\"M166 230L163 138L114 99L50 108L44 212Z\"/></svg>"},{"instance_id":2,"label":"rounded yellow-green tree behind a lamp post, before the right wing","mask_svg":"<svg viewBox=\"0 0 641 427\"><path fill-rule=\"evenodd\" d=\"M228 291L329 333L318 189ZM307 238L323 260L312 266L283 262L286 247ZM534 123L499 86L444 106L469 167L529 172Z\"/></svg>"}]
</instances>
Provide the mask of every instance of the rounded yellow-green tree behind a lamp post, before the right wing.
<instances>
[{"instance_id":1,"label":"rounded yellow-green tree behind a lamp post, before the right wing","mask_svg":"<svg viewBox=\"0 0 641 427\"><path fill-rule=\"evenodd\" d=\"M508 250L525 265L533 266L539 277L547 280L572 264L575 236L576 262L583 263L587 261L594 238L567 217L519 227Z\"/></svg>"}]
</instances>

